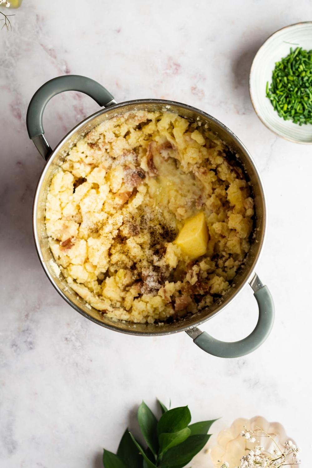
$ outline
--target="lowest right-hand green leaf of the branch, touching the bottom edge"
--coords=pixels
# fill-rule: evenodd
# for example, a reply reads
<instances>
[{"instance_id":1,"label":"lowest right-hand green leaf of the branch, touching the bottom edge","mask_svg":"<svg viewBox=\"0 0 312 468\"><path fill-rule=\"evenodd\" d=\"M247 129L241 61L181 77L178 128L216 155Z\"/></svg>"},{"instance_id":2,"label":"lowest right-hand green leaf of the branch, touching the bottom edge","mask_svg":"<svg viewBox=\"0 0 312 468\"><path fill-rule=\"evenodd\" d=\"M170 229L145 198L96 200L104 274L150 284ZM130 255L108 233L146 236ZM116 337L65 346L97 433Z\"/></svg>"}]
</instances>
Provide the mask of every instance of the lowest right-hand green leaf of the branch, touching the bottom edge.
<instances>
[{"instance_id":1,"label":"lowest right-hand green leaf of the branch, touching the bottom edge","mask_svg":"<svg viewBox=\"0 0 312 468\"><path fill-rule=\"evenodd\" d=\"M160 468L183 467L206 445L210 435L189 436L184 442L164 453Z\"/></svg>"}]
</instances>

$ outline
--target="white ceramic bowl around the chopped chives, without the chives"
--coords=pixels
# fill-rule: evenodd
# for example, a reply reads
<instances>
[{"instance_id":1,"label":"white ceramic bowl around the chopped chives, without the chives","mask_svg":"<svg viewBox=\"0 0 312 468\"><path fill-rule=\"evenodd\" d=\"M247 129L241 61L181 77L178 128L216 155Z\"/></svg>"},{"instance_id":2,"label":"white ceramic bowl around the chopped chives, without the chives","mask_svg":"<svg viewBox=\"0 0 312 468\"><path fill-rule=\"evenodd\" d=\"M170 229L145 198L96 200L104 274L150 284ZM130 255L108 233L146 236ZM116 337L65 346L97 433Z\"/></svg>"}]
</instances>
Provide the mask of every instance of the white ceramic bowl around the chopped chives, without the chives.
<instances>
[{"instance_id":1,"label":"white ceramic bowl around the chopped chives, without the chives","mask_svg":"<svg viewBox=\"0 0 312 468\"><path fill-rule=\"evenodd\" d=\"M266 97L275 62L286 57L290 47L312 49L312 21L291 24L268 37L254 57L249 76L249 92L254 110L263 124L277 135L296 143L312 144L312 124L298 125L283 120Z\"/></svg>"}]
</instances>

